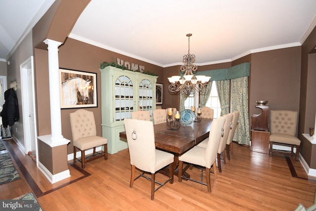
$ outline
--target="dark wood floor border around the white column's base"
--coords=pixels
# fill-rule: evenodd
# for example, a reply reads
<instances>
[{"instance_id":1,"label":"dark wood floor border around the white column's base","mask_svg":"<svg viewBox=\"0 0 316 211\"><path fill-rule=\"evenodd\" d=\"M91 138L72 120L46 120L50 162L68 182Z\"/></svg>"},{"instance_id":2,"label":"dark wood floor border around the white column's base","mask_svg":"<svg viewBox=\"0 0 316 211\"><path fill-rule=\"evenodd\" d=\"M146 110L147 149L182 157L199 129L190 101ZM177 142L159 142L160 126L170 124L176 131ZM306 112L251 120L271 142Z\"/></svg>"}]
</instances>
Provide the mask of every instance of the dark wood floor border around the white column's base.
<instances>
[{"instance_id":1,"label":"dark wood floor border around the white column's base","mask_svg":"<svg viewBox=\"0 0 316 211\"><path fill-rule=\"evenodd\" d=\"M9 141L9 140L6 140L6 141ZM78 166L76 166L74 163L70 164L72 167L74 167L76 170L78 170L80 173L82 173L83 175L80 176L79 178L73 180L73 181L70 181L70 182L67 182L63 185L60 185L56 188L53 188L51 190L48 190L46 192L42 192L40 190L40 187L36 184L36 182L34 181L34 179L32 178L31 174L29 173L29 171L24 167L23 163L21 162L21 160L19 159L19 157L15 154L14 150L11 148L11 146L6 143L6 141L2 141L3 142L3 145L5 146L5 148L7 149L7 151L9 151L9 153L11 154L11 156L13 157L15 163L17 164L18 168L20 169L20 171L22 172L23 176L25 177L27 183L29 184L29 186L31 187L34 195L37 197L37 198L40 198L41 196L44 196L48 193L51 193L51 192L54 192L60 188L63 188L67 185L70 185L74 182L77 182L87 176L90 176L91 174L81 168L79 168ZM11 141L14 141L14 140L11 140Z\"/></svg>"}]
</instances>

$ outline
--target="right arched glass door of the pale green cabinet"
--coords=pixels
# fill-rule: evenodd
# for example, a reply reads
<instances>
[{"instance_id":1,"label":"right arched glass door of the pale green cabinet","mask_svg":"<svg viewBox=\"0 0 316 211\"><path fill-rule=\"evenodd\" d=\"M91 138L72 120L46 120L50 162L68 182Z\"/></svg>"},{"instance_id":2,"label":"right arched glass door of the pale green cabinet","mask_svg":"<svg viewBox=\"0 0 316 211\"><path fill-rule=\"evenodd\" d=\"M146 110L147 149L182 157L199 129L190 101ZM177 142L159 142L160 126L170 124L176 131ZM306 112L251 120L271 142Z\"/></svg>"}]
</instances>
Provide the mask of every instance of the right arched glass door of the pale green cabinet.
<instances>
[{"instance_id":1,"label":"right arched glass door of the pale green cabinet","mask_svg":"<svg viewBox=\"0 0 316 211\"><path fill-rule=\"evenodd\" d=\"M153 84L144 79L139 83L139 102L138 110L149 111L150 116L153 116Z\"/></svg>"}]
</instances>

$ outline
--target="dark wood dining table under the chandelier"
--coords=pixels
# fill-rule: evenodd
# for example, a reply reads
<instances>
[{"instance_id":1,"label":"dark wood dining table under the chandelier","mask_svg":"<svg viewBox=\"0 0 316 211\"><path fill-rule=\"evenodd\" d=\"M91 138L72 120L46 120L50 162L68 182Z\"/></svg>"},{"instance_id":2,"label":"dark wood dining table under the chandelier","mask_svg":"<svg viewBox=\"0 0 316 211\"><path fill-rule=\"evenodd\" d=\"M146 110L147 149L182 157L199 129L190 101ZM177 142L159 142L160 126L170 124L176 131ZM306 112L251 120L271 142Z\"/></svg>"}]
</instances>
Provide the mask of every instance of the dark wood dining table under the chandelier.
<instances>
[{"instance_id":1,"label":"dark wood dining table under the chandelier","mask_svg":"<svg viewBox=\"0 0 316 211\"><path fill-rule=\"evenodd\" d=\"M154 125L156 148L174 154L174 175L178 175L179 156L209 136L212 122L213 119L202 118L200 122L181 126L178 130L170 129L167 123ZM120 132L119 137L126 139L126 132ZM168 174L167 171L165 174Z\"/></svg>"}]
</instances>

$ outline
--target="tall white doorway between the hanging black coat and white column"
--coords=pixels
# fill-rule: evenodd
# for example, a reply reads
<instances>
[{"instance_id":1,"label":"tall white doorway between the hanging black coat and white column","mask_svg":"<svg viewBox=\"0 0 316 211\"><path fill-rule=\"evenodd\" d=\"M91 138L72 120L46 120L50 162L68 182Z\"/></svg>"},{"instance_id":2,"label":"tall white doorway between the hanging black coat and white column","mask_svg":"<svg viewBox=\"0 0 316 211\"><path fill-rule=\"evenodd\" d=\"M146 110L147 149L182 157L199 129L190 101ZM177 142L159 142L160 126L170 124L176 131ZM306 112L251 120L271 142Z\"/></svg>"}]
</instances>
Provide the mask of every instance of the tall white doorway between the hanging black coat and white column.
<instances>
[{"instance_id":1,"label":"tall white doorway between the hanging black coat and white column","mask_svg":"<svg viewBox=\"0 0 316 211\"><path fill-rule=\"evenodd\" d=\"M25 154L38 155L33 56L20 65ZM38 157L38 156L37 156ZM38 163L37 163L38 166Z\"/></svg>"}]
</instances>

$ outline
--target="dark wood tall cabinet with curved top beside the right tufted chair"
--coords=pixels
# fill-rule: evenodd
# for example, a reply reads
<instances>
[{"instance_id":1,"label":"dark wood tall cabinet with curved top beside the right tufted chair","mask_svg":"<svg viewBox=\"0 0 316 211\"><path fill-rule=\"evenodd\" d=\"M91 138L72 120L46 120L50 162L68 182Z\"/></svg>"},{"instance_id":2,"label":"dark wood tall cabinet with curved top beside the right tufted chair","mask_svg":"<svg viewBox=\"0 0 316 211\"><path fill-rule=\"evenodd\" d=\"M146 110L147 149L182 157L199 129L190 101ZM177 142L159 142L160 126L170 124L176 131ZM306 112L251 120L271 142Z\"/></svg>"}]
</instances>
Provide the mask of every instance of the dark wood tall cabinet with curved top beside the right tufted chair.
<instances>
[{"instance_id":1,"label":"dark wood tall cabinet with curved top beside the right tufted chair","mask_svg":"<svg viewBox=\"0 0 316 211\"><path fill-rule=\"evenodd\" d=\"M251 151L269 154L269 105L255 105L260 114L251 117Z\"/></svg>"}]
</instances>

